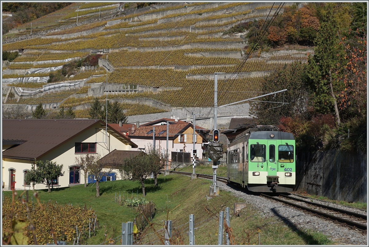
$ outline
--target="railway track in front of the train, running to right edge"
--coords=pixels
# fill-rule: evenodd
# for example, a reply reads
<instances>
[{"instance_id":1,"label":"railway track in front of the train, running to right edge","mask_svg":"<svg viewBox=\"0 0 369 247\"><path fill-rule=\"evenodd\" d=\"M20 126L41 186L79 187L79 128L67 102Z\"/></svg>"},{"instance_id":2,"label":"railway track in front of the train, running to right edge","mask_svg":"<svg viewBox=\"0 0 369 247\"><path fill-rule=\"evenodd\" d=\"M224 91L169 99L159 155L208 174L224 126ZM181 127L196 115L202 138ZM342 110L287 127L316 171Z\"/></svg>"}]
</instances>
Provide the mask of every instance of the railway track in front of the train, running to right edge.
<instances>
[{"instance_id":1,"label":"railway track in front of the train, running to right edge","mask_svg":"<svg viewBox=\"0 0 369 247\"><path fill-rule=\"evenodd\" d=\"M307 201L304 199L294 198L292 196L287 196L283 194L278 194L277 196L270 196L266 194L261 194L267 198L285 203L287 205L293 206L295 208L302 209L305 212L310 212L315 215L324 217L326 219L333 220L334 222L339 222L343 225L349 226L353 229L358 229L365 231L367 230L367 216L359 213L354 213L346 211L339 208L334 208L320 203L315 203ZM280 197L286 198L281 199Z\"/></svg>"}]
</instances>

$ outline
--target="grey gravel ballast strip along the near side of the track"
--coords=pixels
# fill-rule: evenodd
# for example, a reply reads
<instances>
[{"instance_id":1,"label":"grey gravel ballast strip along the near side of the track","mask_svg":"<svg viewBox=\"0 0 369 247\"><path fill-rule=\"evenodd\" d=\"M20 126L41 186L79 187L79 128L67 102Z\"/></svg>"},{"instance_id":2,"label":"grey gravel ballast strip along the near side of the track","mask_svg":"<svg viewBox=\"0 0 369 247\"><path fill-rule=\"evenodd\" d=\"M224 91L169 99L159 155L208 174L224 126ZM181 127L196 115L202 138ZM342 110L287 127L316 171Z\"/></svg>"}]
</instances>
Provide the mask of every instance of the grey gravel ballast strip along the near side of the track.
<instances>
[{"instance_id":1,"label":"grey gravel ballast strip along the near side of the track","mask_svg":"<svg viewBox=\"0 0 369 247\"><path fill-rule=\"evenodd\" d=\"M331 220L320 219L317 216L310 215L284 203L263 196L252 195L246 189L224 184L223 182L217 182L217 184L221 190L232 192L238 198L245 199L247 203L254 205L263 217L275 216L283 220L286 224L294 225L301 231L311 229L321 232L334 241L335 244L368 245L367 234L360 230L352 230L348 227L340 226ZM360 213L366 214L365 211L361 211Z\"/></svg>"}]
</instances>

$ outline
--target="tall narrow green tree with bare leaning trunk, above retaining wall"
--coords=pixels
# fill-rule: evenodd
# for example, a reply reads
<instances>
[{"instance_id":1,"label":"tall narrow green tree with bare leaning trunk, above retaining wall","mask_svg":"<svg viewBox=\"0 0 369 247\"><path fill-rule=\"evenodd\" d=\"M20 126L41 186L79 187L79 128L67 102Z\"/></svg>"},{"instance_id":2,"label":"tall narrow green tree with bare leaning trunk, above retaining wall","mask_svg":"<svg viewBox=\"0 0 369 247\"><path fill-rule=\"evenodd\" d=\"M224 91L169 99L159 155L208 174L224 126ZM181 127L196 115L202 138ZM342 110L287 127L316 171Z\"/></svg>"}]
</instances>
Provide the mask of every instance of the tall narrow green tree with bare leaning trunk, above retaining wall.
<instances>
[{"instance_id":1,"label":"tall narrow green tree with bare leaning trunk, above retaining wall","mask_svg":"<svg viewBox=\"0 0 369 247\"><path fill-rule=\"evenodd\" d=\"M332 10L327 7L322 11L322 22L314 41L314 56L308 58L308 77L314 110L320 114L335 112L338 126L341 124L337 106L336 93L339 83L334 83L343 56L343 47L339 43L336 20Z\"/></svg>"}]
</instances>

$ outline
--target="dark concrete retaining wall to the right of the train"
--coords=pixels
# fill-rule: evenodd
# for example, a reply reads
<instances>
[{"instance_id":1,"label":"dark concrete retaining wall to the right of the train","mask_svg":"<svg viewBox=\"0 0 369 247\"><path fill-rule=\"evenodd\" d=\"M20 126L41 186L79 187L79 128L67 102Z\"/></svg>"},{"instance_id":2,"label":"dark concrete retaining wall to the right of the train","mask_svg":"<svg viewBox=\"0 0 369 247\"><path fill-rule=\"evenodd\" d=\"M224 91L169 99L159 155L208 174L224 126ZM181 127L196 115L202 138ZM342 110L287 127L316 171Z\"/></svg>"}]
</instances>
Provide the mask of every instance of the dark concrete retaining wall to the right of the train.
<instances>
[{"instance_id":1,"label":"dark concrete retaining wall to the right of the train","mask_svg":"<svg viewBox=\"0 0 369 247\"><path fill-rule=\"evenodd\" d=\"M365 154L297 150L295 189L333 200L367 201Z\"/></svg>"}]
</instances>

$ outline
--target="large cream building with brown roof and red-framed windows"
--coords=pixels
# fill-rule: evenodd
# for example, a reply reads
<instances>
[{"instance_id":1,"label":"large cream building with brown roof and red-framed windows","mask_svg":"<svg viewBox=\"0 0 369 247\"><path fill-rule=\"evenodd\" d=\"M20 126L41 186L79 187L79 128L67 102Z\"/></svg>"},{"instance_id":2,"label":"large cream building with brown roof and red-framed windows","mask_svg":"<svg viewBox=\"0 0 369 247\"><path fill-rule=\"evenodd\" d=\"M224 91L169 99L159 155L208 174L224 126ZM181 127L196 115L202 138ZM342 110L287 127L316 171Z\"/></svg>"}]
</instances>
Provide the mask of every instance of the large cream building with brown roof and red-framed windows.
<instances>
[{"instance_id":1,"label":"large cream building with brown roof and red-framed windows","mask_svg":"<svg viewBox=\"0 0 369 247\"><path fill-rule=\"evenodd\" d=\"M32 189L24 177L35 160L63 164L62 177L53 187L83 183L83 173L76 157L92 154L104 157L111 151L131 150L137 145L123 133L99 119L3 119L2 180L3 188ZM35 189L45 189L37 184Z\"/></svg>"}]
</instances>

